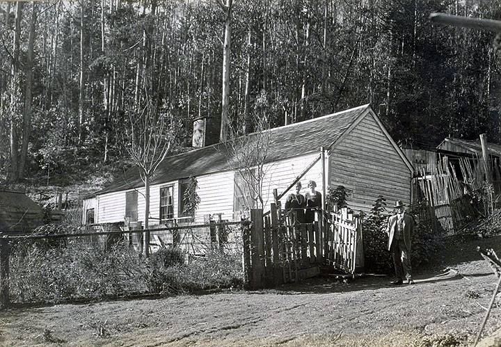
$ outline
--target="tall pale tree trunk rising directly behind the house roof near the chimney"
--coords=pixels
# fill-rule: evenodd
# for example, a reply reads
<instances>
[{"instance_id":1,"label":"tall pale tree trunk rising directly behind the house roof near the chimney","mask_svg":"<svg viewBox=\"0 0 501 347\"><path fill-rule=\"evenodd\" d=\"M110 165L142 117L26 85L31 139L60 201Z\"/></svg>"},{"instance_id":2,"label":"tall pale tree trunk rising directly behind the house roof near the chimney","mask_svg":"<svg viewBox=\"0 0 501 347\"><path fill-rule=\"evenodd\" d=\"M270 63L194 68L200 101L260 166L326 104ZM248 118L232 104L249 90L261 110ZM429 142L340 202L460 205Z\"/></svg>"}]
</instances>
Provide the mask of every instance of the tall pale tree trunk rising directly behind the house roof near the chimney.
<instances>
[{"instance_id":1,"label":"tall pale tree trunk rising directly behind the house roof near the chimney","mask_svg":"<svg viewBox=\"0 0 501 347\"><path fill-rule=\"evenodd\" d=\"M233 0L226 0L225 41L223 46L223 102L221 104L221 132L219 141L228 140L228 127L230 125L230 57L231 57L231 16Z\"/></svg>"}]
</instances>

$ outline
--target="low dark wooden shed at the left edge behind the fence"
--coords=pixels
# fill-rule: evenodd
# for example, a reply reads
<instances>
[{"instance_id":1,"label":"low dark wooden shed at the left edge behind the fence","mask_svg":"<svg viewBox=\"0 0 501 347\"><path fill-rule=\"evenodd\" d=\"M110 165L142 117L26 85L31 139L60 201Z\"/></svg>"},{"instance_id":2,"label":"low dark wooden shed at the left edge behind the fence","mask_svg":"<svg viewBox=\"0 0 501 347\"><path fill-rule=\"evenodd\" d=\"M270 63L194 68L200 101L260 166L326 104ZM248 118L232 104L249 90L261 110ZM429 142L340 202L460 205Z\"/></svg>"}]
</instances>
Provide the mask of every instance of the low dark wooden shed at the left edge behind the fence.
<instances>
[{"instance_id":1,"label":"low dark wooden shed at the left edge behind the fence","mask_svg":"<svg viewBox=\"0 0 501 347\"><path fill-rule=\"evenodd\" d=\"M43 211L19 191L0 191L0 232L27 232L43 225Z\"/></svg>"}]
</instances>

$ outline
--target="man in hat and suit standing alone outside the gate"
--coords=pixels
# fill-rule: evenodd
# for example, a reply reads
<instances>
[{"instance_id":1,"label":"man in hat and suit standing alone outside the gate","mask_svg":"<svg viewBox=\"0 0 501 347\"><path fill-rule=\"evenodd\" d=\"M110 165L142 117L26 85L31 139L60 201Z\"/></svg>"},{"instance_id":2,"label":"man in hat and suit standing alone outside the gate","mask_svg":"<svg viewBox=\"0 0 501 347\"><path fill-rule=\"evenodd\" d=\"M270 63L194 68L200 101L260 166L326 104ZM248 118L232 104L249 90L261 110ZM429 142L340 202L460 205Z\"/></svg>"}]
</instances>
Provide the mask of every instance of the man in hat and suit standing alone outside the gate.
<instances>
[{"instance_id":1,"label":"man in hat and suit standing alone outside the gate","mask_svg":"<svg viewBox=\"0 0 501 347\"><path fill-rule=\"evenodd\" d=\"M405 213L405 204L401 201L395 202L397 214L388 218L388 250L393 257L395 264L395 275L397 280L391 284L400 285L404 283L404 275L408 284L414 284L411 268L411 234L414 229L414 219Z\"/></svg>"}]
</instances>

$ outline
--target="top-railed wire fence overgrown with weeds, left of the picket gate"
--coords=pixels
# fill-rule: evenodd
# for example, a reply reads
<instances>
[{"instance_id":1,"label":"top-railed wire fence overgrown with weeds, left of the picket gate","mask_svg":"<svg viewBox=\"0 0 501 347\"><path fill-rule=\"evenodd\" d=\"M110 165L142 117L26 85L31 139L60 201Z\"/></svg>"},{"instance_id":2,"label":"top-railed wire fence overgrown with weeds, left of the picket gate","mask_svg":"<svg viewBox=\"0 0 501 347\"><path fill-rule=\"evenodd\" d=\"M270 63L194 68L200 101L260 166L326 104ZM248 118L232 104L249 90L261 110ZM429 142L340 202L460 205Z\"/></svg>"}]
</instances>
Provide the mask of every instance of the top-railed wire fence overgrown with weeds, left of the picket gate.
<instances>
[{"instance_id":1,"label":"top-railed wire fence overgrown with weeds, left of the picket gate","mask_svg":"<svg viewBox=\"0 0 501 347\"><path fill-rule=\"evenodd\" d=\"M8 301L55 303L241 287L241 225L217 225L228 236L224 245L210 237L211 227L172 228L190 238L175 246L154 244L156 252L148 258L130 238L145 230L0 238L2 255L9 248ZM173 231L151 230L165 240L175 239Z\"/></svg>"}]
</instances>

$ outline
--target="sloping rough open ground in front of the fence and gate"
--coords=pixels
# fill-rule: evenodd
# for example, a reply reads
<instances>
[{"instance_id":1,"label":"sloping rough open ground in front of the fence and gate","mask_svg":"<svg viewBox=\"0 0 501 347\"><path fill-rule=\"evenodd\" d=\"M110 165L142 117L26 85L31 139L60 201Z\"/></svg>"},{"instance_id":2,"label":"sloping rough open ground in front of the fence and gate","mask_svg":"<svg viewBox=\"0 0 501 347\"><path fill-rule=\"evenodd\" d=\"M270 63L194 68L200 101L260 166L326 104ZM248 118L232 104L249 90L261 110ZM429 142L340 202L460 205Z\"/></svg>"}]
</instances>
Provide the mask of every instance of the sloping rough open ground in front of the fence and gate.
<instances>
[{"instance_id":1,"label":"sloping rough open ground in front of the fence and gate","mask_svg":"<svg viewBox=\"0 0 501 347\"><path fill-rule=\"evenodd\" d=\"M0 312L0 345L468 346L497 282L477 245L501 255L500 236L457 243L414 286L318 278L265 291L9 309ZM495 306L486 334L500 318Z\"/></svg>"}]
</instances>

